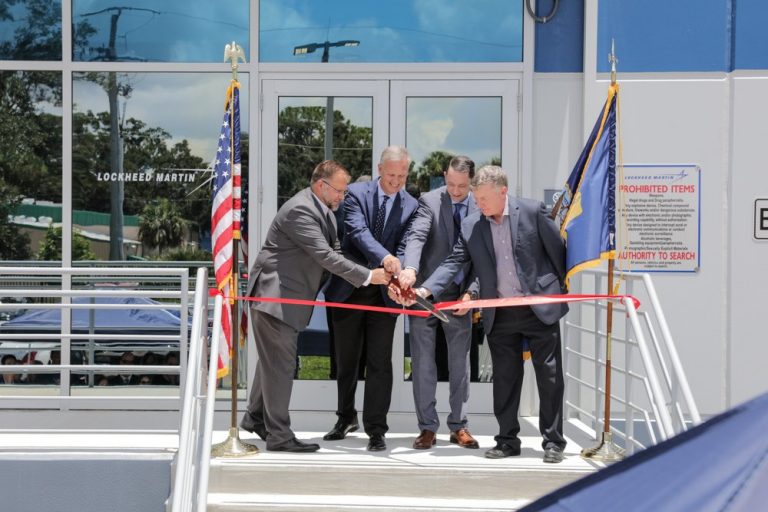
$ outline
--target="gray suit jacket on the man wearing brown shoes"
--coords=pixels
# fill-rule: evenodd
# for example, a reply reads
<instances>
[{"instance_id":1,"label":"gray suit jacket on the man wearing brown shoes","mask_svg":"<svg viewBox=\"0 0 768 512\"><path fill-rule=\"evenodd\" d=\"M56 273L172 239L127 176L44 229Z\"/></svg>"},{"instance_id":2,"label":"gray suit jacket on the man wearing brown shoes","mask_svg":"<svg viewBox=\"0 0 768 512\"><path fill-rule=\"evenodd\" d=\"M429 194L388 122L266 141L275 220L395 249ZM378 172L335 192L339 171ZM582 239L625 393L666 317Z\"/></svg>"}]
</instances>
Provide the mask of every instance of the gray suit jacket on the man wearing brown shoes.
<instances>
[{"instance_id":1,"label":"gray suit jacket on the man wearing brown shoes","mask_svg":"<svg viewBox=\"0 0 768 512\"><path fill-rule=\"evenodd\" d=\"M475 200L470 197L467 201L469 217L477 211ZM453 251L455 227L453 224L453 202L445 186L427 192L419 197L419 209L408 230L407 244L403 267L416 269L416 286L420 286L432 275ZM470 279L470 264L464 268L464 281L459 286L463 293ZM455 299L455 297L451 297ZM435 295L435 301L444 300Z\"/></svg>"}]
</instances>

